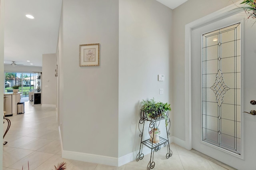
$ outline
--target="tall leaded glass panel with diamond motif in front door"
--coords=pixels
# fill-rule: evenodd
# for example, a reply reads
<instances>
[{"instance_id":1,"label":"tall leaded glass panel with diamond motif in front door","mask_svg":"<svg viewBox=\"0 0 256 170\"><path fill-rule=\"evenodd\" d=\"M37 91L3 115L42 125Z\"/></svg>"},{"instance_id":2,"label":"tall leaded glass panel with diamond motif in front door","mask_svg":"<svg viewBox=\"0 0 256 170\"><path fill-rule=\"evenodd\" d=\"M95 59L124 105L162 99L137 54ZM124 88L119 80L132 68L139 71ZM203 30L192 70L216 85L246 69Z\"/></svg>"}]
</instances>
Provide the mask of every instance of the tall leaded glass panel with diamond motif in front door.
<instances>
[{"instance_id":1,"label":"tall leaded glass panel with diamond motif in front door","mask_svg":"<svg viewBox=\"0 0 256 170\"><path fill-rule=\"evenodd\" d=\"M240 154L240 23L202 39L202 140Z\"/></svg>"}]
</instances>

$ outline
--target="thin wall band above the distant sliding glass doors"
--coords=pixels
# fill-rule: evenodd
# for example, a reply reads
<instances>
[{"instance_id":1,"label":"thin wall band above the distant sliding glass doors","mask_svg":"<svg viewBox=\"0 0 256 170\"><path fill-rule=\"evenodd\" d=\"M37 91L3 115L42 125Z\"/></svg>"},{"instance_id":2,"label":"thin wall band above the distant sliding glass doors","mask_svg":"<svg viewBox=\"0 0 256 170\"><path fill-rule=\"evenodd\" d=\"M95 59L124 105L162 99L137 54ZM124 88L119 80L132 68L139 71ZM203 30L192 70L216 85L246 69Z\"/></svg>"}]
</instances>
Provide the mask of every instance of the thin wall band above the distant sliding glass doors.
<instances>
[{"instance_id":1,"label":"thin wall band above the distant sliding glass doors","mask_svg":"<svg viewBox=\"0 0 256 170\"><path fill-rule=\"evenodd\" d=\"M22 73L32 73L34 72L40 72L42 71L42 67L36 67L36 66L26 66L26 65L16 65L13 67L12 65L4 64L4 71L5 72L22 72Z\"/></svg>"}]
</instances>

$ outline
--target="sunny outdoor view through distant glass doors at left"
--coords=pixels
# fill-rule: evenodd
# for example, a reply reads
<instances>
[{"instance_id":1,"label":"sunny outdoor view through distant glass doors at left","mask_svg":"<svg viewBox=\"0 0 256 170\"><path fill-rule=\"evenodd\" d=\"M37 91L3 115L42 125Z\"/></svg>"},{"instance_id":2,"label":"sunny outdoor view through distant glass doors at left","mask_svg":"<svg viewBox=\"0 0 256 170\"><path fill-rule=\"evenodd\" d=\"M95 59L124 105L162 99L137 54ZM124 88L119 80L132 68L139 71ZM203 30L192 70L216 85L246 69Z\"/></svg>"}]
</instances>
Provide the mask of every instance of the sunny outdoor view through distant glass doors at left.
<instances>
[{"instance_id":1,"label":"sunny outdoor view through distant glass doors at left","mask_svg":"<svg viewBox=\"0 0 256 170\"><path fill-rule=\"evenodd\" d=\"M18 85L22 97L28 97L28 92L34 90L34 73L5 73L5 93L12 92L12 87Z\"/></svg>"}]
</instances>

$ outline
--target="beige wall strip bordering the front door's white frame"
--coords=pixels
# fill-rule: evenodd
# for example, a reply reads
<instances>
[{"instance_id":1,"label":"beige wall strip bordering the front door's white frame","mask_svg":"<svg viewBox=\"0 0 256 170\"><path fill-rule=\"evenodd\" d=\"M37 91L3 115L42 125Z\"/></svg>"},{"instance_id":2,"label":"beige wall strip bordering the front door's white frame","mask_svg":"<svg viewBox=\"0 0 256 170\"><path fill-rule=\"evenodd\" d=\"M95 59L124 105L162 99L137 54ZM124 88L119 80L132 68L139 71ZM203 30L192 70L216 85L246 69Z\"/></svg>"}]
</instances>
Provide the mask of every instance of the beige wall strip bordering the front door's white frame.
<instances>
[{"instance_id":1,"label":"beige wall strip bordering the front door's white frame","mask_svg":"<svg viewBox=\"0 0 256 170\"><path fill-rule=\"evenodd\" d=\"M174 136L185 140L185 25L220 10L238 0L188 0L173 10L172 55ZM198 5L200 4L200 5ZM193 81L193 80L192 80Z\"/></svg>"}]
</instances>

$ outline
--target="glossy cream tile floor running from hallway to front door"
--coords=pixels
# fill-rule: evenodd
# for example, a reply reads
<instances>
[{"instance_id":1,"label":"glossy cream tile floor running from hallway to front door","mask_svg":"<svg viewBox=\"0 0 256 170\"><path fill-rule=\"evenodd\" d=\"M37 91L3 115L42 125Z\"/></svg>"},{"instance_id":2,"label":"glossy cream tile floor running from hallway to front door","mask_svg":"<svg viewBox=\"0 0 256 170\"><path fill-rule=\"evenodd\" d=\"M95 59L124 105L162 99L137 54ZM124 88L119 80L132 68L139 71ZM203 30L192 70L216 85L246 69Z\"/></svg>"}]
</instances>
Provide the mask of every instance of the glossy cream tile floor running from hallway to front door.
<instances>
[{"instance_id":1,"label":"glossy cream tile floor running from hallway to front door","mask_svg":"<svg viewBox=\"0 0 256 170\"><path fill-rule=\"evenodd\" d=\"M11 127L3 146L3 170L52 170L60 162L67 163L67 170L146 170L150 154L138 162L136 160L120 167L106 166L63 159L56 120L55 108L31 106L25 102L25 114L6 117ZM4 124L4 128L6 123ZM170 144L172 157L165 158L166 149L154 154L155 170L226 170L222 166L186 150Z\"/></svg>"}]
</instances>

